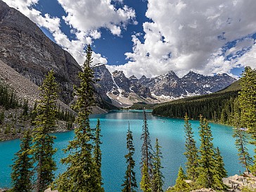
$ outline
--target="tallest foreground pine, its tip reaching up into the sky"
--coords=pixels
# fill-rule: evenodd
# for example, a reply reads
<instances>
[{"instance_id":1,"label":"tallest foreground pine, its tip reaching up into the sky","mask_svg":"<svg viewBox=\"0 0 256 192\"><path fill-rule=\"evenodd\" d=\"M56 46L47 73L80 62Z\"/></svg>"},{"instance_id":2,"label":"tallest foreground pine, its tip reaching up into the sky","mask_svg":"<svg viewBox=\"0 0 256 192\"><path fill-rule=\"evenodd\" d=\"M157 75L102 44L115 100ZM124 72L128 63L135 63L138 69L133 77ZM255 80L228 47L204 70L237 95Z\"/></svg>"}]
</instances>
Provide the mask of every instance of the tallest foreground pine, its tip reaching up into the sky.
<instances>
[{"instance_id":1,"label":"tallest foreground pine, its tip reaching up into the sky","mask_svg":"<svg viewBox=\"0 0 256 192\"><path fill-rule=\"evenodd\" d=\"M61 162L67 165L67 170L58 177L54 183L59 192L71 191L90 191L98 192L102 190L98 183L98 173L94 167L92 155L93 142L95 136L89 124L89 115L91 107L94 105L94 71L91 70L92 62L91 46L87 46L87 59L83 65L83 72L79 72L80 86L75 87L77 103L75 109L78 110L75 127L75 137L69 142L65 153L68 157L63 158Z\"/></svg>"}]
</instances>

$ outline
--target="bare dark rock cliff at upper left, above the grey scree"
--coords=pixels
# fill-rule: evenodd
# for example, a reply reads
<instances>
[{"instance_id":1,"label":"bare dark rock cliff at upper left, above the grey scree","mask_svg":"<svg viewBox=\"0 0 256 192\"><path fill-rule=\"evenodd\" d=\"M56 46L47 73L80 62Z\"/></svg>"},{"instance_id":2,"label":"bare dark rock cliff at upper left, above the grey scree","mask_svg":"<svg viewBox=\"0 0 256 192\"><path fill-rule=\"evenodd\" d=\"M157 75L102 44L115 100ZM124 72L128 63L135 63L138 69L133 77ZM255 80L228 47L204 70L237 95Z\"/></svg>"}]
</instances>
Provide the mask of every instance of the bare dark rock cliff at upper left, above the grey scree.
<instances>
[{"instance_id":1,"label":"bare dark rock cliff at upper left, above the grey scree","mask_svg":"<svg viewBox=\"0 0 256 192\"><path fill-rule=\"evenodd\" d=\"M76 60L51 41L29 18L0 0L0 59L34 84L41 85L53 69L60 84L61 100L72 100L73 84L81 71Z\"/></svg>"}]
</instances>

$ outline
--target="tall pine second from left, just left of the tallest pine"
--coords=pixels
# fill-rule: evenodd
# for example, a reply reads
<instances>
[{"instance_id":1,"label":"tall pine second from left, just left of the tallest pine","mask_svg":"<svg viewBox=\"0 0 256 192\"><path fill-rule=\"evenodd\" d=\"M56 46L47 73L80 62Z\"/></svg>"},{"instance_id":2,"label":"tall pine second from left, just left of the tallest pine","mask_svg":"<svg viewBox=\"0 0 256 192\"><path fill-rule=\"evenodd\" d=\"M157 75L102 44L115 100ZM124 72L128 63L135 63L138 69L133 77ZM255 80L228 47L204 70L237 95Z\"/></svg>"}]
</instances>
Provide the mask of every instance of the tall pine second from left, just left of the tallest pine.
<instances>
[{"instance_id":1,"label":"tall pine second from left, just left of the tallest pine","mask_svg":"<svg viewBox=\"0 0 256 192\"><path fill-rule=\"evenodd\" d=\"M37 117L34 121L33 132L33 156L36 162L36 187L35 191L44 191L54 179L53 171L56 170L56 162L53 155L56 149L53 148L53 140L56 136L51 136L56 127L56 99L57 83L51 70L40 87L41 100L37 105Z\"/></svg>"}]
</instances>

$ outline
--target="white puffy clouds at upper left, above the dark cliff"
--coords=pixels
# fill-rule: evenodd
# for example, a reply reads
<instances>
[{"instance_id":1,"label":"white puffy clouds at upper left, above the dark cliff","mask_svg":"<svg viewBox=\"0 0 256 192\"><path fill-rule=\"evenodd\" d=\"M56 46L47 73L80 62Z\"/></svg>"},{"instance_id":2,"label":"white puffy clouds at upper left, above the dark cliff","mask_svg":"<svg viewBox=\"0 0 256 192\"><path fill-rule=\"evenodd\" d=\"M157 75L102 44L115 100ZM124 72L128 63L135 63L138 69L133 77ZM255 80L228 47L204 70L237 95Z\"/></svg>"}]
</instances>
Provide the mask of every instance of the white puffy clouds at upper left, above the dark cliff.
<instances>
[{"instance_id":1,"label":"white puffy clouds at upper left, above the dark cliff","mask_svg":"<svg viewBox=\"0 0 256 192\"><path fill-rule=\"evenodd\" d=\"M18 9L34 23L49 30L54 40L64 49L69 51L82 64L85 60L84 46L91 44L93 39L99 39L104 27L112 34L120 36L122 30L129 23L136 23L135 11L126 5L115 8L110 0L58 0L67 16L62 19L70 26L70 31L75 34L76 39L69 39L60 30L60 18L51 17L49 14L41 15L40 11L31 8L33 4L38 4L39 0L4 0L8 6ZM117 1L122 4L122 1ZM101 54L94 53L94 63L104 63L108 61L101 57Z\"/></svg>"}]
</instances>

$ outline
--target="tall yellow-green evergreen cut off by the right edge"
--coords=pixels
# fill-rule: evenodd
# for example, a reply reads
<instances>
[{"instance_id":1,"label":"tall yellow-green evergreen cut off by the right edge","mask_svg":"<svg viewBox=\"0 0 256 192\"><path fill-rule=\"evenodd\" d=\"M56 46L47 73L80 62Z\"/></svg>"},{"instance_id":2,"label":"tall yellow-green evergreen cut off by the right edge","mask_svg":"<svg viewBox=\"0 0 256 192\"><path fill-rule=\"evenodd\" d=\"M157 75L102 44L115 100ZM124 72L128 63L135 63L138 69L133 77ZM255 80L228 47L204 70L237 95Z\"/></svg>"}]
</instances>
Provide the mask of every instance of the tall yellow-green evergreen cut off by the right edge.
<instances>
[{"instance_id":1,"label":"tall yellow-green evergreen cut off by the right edge","mask_svg":"<svg viewBox=\"0 0 256 192\"><path fill-rule=\"evenodd\" d=\"M253 139L251 143L256 146L256 70L245 67L241 78L241 87L238 95L241 105L241 124L248 128L248 132ZM251 171L256 174L256 155Z\"/></svg>"}]
</instances>

